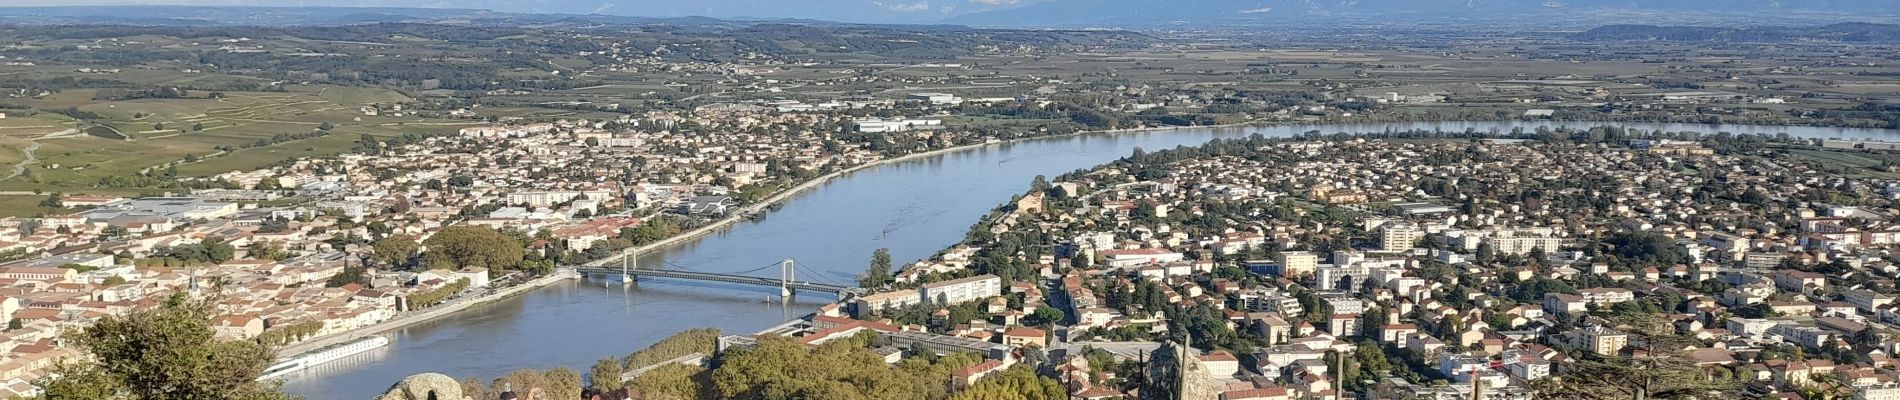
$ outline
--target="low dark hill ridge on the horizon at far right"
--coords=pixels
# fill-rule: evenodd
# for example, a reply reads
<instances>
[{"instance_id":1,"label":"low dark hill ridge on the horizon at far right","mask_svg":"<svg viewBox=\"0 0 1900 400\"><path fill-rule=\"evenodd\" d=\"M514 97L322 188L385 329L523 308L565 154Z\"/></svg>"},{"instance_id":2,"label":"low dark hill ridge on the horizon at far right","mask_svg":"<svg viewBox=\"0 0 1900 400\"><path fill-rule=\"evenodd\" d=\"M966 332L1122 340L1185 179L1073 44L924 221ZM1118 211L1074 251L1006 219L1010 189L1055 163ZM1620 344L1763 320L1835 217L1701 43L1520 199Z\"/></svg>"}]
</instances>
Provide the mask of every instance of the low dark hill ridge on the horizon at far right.
<instances>
[{"instance_id":1,"label":"low dark hill ridge on the horizon at far right","mask_svg":"<svg viewBox=\"0 0 1900 400\"><path fill-rule=\"evenodd\" d=\"M1653 25L1609 25L1577 34L1579 40L1657 40L1657 42L1900 42L1900 25L1881 23L1837 23L1826 27L1759 27L1759 28L1712 28L1712 27L1653 27Z\"/></svg>"}]
</instances>

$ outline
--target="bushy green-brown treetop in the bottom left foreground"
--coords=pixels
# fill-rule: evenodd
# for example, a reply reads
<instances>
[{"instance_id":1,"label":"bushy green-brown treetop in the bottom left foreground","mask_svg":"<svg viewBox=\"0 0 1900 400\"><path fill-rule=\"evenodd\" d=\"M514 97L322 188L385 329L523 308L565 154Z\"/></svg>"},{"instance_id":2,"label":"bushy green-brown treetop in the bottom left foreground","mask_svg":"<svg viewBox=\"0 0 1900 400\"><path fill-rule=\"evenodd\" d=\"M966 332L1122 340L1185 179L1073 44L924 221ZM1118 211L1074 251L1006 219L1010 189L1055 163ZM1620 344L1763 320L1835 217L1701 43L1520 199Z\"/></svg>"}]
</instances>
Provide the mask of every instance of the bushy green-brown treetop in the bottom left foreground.
<instances>
[{"instance_id":1,"label":"bushy green-brown treetop in the bottom left foreground","mask_svg":"<svg viewBox=\"0 0 1900 400\"><path fill-rule=\"evenodd\" d=\"M44 400L291 400L258 383L276 356L255 341L222 341L211 305L182 294L160 307L106 317L70 334L93 362L59 366Z\"/></svg>"}]
</instances>

